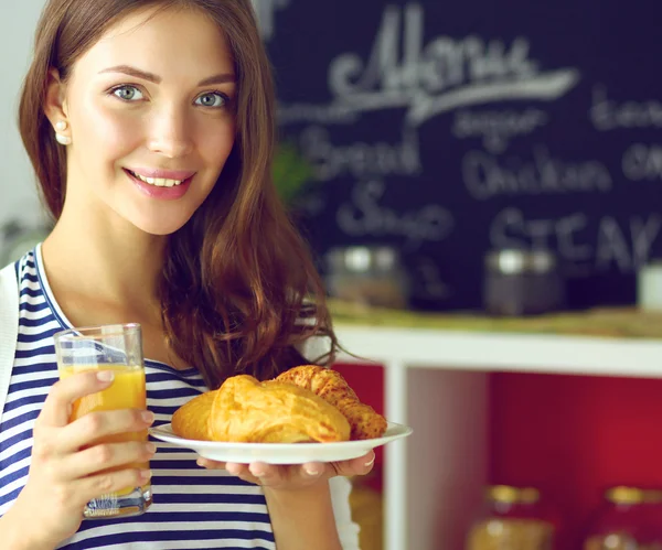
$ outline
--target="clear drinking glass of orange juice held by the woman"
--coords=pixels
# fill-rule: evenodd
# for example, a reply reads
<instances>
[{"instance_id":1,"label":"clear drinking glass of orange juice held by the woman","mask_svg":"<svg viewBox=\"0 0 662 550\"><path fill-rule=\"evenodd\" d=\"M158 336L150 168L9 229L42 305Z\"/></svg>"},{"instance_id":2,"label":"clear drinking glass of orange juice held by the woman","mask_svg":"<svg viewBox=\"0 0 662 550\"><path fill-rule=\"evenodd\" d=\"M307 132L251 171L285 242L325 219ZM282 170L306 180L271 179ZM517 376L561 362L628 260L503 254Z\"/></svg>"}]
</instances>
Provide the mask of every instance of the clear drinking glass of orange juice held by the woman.
<instances>
[{"instance_id":1,"label":"clear drinking glass of orange juice held by the woman","mask_svg":"<svg viewBox=\"0 0 662 550\"><path fill-rule=\"evenodd\" d=\"M105 325L71 328L54 336L60 378L86 370L113 370L113 384L98 393L74 402L70 422L95 411L146 409L145 363L140 325ZM147 441L147 430L103 438L98 443ZM149 468L149 464L122 467ZM86 518L113 518L145 513L152 503L151 484L127 487L118 493L103 495L85 507Z\"/></svg>"}]
</instances>

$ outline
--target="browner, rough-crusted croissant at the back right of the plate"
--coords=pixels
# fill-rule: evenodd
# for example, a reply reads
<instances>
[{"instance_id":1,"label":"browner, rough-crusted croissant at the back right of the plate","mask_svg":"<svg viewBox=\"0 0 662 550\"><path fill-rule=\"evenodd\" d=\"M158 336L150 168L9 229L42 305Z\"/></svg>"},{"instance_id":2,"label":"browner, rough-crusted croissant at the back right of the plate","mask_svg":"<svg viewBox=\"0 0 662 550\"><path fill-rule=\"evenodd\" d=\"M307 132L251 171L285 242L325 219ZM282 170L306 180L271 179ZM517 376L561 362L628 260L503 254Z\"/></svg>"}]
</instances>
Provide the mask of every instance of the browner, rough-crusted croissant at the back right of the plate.
<instances>
[{"instance_id":1,"label":"browner, rough-crusted croissant at the back right of the plate","mask_svg":"<svg viewBox=\"0 0 662 550\"><path fill-rule=\"evenodd\" d=\"M371 406L362 403L337 370L316 365L302 365L286 370L275 380L309 389L334 406L349 420L352 440L381 438L386 431L386 419L376 413Z\"/></svg>"}]
</instances>

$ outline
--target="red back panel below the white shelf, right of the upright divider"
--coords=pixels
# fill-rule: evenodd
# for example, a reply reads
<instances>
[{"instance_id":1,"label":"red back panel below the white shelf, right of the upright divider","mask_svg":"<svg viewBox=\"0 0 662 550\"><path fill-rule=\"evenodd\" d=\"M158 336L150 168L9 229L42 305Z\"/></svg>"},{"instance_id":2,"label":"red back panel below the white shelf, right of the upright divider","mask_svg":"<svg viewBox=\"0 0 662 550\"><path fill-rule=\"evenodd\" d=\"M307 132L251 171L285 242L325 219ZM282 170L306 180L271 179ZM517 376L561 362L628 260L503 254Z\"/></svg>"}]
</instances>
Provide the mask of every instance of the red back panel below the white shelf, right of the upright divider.
<instances>
[{"instance_id":1,"label":"red back panel below the white shelf, right of the upright divider","mask_svg":"<svg viewBox=\"0 0 662 550\"><path fill-rule=\"evenodd\" d=\"M564 549L606 487L662 486L662 380L495 374L491 397L491 481L541 487Z\"/></svg>"}]
</instances>

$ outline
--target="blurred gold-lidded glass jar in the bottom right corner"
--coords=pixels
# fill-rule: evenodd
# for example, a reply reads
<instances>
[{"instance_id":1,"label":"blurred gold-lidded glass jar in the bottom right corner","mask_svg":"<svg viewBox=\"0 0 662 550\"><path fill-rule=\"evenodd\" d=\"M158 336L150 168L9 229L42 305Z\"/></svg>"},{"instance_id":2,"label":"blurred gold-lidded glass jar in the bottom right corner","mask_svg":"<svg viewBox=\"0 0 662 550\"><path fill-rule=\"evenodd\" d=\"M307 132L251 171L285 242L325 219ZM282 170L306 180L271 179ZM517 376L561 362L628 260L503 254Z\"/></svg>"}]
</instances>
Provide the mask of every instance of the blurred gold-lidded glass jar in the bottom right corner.
<instances>
[{"instance_id":1,"label":"blurred gold-lidded glass jar in the bottom right corner","mask_svg":"<svg viewBox=\"0 0 662 550\"><path fill-rule=\"evenodd\" d=\"M662 492L612 487L586 536L584 550L662 550Z\"/></svg>"}]
</instances>

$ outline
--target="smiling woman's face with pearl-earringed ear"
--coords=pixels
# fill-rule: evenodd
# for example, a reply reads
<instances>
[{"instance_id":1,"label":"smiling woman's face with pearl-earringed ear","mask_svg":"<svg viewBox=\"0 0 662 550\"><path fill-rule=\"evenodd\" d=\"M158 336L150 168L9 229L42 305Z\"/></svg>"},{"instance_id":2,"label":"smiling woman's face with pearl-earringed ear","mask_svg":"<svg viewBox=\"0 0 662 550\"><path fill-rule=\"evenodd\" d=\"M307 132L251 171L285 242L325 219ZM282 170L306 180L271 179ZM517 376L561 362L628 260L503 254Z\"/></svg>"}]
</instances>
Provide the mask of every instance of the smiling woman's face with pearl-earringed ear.
<instances>
[{"instance_id":1,"label":"smiling woman's face with pearl-earringed ear","mask_svg":"<svg viewBox=\"0 0 662 550\"><path fill-rule=\"evenodd\" d=\"M235 139L234 63L217 25L192 10L132 13L76 61L61 90L66 202L152 235L182 227Z\"/></svg>"}]
</instances>

